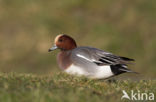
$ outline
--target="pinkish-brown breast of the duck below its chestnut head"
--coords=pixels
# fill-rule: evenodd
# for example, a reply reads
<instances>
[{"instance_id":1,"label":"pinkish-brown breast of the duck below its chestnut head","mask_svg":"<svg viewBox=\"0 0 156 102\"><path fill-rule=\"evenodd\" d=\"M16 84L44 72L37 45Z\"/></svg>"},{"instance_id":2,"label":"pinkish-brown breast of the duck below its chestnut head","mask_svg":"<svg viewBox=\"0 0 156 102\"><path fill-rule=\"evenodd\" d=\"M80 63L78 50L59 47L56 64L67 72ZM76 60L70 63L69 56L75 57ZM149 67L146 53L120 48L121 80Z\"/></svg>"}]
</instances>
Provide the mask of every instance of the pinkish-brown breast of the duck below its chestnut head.
<instances>
[{"instance_id":1,"label":"pinkish-brown breast of the duck below its chestnut head","mask_svg":"<svg viewBox=\"0 0 156 102\"><path fill-rule=\"evenodd\" d=\"M61 51L60 53L58 53L57 63L61 69L65 70L72 64L70 55L70 51Z\"/></svg>"}]
</instances>

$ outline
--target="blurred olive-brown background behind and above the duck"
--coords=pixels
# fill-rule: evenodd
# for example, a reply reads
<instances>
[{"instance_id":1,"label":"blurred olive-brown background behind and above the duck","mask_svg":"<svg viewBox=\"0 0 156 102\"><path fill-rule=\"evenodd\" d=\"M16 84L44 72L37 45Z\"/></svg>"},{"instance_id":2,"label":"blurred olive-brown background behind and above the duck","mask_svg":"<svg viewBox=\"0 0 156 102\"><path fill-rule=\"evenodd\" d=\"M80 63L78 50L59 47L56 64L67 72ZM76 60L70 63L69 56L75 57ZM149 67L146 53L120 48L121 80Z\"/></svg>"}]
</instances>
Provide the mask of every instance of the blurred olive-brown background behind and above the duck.
<instances>
[{"instance_id":1,"label":"blurred olive-brown background behind and above the duck","mask_svg":"<svg viewBox=\"0 0 156 102\"><path fill-rule=\"evenodd\" d=\"M60 33L156 77L156 0L0 0L0 72L60 72L59 51L48 53Z\"/></svg>"}]
</instances>

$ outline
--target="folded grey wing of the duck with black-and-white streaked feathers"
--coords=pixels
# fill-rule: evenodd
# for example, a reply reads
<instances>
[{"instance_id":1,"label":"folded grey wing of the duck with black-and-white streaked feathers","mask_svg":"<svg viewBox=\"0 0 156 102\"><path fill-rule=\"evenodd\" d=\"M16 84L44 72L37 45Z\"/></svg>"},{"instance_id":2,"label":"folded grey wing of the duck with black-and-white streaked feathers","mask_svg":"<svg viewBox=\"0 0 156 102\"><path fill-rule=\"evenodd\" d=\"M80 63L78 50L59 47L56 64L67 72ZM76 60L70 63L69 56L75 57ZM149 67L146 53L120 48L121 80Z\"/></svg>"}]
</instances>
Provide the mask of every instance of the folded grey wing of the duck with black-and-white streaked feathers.
<instances>
[{"instance_id":1,"label":"folded grey wing of the duck with black-and-white streaked feathers","mask_svg":"<svg viewBox=\"0 0 156 102\"><path fill-rule=\"evenodd\" d=\"M103 50L91 47L79 47L74 51L75 57L94 62L98 66L103 65L116 65L116 64L129 64L133 59L114 55Z\"/></svg>"}]
</instances>

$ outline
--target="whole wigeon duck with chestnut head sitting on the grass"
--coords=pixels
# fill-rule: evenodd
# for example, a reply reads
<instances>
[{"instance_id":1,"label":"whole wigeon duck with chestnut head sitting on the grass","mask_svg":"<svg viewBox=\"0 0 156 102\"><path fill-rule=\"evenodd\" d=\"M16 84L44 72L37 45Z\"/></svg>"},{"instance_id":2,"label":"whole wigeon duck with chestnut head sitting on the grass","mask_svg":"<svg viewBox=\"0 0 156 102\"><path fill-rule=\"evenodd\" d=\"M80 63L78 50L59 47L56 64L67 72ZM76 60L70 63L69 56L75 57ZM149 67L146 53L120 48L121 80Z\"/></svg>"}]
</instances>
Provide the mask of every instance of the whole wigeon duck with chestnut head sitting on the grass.
<instances>
[{"instance_id":1,"label":"whole wigeon duck with chestnut head sitting on the grass","mask_svg":"<svg viewBox=\"0 0 156 102\"><path fill-rule=\"evenodd\" d=\"M69 74L106 79L133 72L127 65L134 59L117 56L97 48L77 47L75 40L65 34L56 36L54 46L49 52L55 49L61 50L57 56L59 67Z\"/></svg>"}]
</instances>

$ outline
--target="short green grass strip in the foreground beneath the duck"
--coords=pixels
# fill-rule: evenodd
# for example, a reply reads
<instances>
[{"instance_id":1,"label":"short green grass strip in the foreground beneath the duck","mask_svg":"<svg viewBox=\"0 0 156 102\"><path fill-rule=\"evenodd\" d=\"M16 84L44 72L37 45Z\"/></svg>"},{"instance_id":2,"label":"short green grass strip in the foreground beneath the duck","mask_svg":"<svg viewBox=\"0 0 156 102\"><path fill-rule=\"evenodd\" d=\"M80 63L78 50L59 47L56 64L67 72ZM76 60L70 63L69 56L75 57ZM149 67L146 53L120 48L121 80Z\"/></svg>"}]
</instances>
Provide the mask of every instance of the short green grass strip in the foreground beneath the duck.
<instances>
[{"instance_id":1,"label":"short green grass strip in the foreground beneath the duck","mask_svg":"<svg viewBox=\"0 0 156 102\"><path fill-rule=\"evenodd\" d=\"M156 94L155 86L155 80L110 82L65 73L52 76L0 73L0 102L121 102L122 90Z\"/></svg>"}]
</instances>

